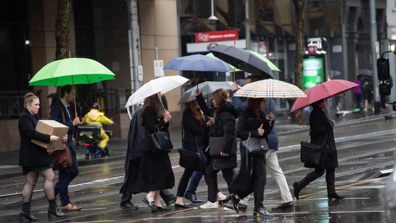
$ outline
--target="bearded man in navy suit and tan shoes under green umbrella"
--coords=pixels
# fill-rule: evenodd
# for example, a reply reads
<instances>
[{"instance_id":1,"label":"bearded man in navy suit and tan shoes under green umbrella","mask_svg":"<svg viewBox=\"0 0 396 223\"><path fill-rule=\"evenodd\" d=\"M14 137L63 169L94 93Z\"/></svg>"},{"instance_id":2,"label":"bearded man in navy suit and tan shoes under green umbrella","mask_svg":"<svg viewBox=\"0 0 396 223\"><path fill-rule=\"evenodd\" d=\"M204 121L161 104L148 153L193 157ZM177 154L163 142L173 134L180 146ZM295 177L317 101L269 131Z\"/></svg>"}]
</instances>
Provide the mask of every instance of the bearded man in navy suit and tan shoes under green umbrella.
<instances>
[{"instance_id":1,"label":"bearded man in navy suit and tan shoes under green umbrella","mask_svg":"<svg viewBox=\"0 0 396 223\"><path fill-rule=\"evenodd\" d=\"M51 107L51 120L55 120L63 125L69 127L67 132L67 146L69 146L70 154L72 155L72 166L69 169L60 169L58 176L58 183L54 186L55 196L59 194L61 198L62 211L78 211L81 207L74 206L70 202L68 195L68 187L70 181L72 181L78 175L78 163L76 147L73 146L74 138L77 138L76 125L80 123L78 117L74 117L70 110L70 104L74 101L75 90L72 85L63 85L61 87L61 100L58 104L53 104ZM65 115L65 122L63 122L63 115Z\"/></svg>"}]
</instances>

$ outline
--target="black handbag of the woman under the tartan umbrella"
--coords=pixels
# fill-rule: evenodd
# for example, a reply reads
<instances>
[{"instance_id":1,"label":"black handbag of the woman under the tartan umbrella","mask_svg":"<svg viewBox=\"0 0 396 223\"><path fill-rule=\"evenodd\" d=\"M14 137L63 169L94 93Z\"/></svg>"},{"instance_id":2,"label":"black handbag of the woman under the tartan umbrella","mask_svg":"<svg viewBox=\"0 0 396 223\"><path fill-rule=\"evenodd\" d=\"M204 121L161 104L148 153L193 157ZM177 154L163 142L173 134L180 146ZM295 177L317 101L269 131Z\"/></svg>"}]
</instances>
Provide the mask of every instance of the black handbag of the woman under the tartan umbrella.
<instances>
[{"instance_id":1,"label":"black handbag of the woman under the tartan umbrella","mask_svg":"<svg viewBox=\"0 0 396 223\"><path fill-rule=\"evenodd\" d=\"M269 150L267 141L265 138L250 138L251 132L249 132L249 138L241 141L241 147L246 150L246 171L249 172L248 157L255 155L264 155ZM251 158L253 159L253 158ZM253 173L253 161L251 162L250 173Z\"/></svg>"}]
</instances>

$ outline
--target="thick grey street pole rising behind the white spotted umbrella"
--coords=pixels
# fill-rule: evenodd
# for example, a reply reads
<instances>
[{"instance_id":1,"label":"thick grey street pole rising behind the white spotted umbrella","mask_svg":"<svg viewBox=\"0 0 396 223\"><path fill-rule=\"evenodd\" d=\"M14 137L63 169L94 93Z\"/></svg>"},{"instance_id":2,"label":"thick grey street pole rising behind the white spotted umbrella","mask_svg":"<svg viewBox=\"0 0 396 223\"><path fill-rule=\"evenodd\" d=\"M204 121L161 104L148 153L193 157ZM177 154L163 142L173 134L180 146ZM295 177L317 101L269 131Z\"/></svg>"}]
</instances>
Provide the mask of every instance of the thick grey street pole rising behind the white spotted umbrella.
<instances>
[{"instance_id":1,"label":"thick grey street pole rising behind the white spotted umbrella","mask_svg":"<svg viewBox=\"0 0 396 223\"><path fill-rule=\"evenodd\" d=\"M129 0L129 60L131 69L131 94L140 87L137 66L140 63L140 31L137 15L137 0ZM135 106L132 106L132 113Z\"/></svg>"}]
</instances>

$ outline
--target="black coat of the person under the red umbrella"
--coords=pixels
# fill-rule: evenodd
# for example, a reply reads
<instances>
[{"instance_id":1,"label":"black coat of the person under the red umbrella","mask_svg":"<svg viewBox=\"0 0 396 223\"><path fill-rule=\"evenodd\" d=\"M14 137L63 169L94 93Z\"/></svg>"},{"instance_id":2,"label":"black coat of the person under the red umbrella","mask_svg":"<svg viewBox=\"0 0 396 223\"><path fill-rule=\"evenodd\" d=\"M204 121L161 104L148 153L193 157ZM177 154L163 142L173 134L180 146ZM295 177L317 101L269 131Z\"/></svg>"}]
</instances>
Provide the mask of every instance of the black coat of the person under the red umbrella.
<instances>
[{"instance_id":1,"label":"black coat of the person under the red umbrella","mask_svg":"<svg viewBox=\"0 0 396 223\"><path fill-rule=\"evenodd\" d=\"M322 145L327 133L328 135L320 154L319 165L313 166L304 164L304 167L338 167L337 148L335 147L333 127L322 109L316 105L312 108L313 110L309 116L311 143Z\"/></svg>"}]
</instances>

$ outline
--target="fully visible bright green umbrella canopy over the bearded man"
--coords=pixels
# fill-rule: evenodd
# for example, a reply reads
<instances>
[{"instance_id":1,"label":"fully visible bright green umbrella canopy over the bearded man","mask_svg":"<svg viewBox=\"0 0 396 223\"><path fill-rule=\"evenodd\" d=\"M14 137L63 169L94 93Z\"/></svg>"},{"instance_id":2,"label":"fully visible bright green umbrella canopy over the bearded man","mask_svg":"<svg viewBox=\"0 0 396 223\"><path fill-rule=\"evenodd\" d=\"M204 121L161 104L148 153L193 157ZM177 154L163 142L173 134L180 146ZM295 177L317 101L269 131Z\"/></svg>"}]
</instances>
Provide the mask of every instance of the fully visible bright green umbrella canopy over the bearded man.
<instances>
[{"instance_id":1,"label":"fully visible bright green umbrella canopy over the bearded man","mask_svg":"<svg viewBox=\"0 0 396 223\"><path fill-rule=\"evenodd\" d=\"M114 79L114 73L88 58L66 58L48 63L29 81L29 85L62 86L92 84Z\"/></svg>"}]
</instances>

